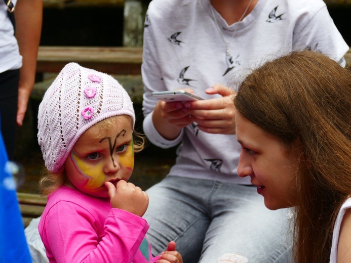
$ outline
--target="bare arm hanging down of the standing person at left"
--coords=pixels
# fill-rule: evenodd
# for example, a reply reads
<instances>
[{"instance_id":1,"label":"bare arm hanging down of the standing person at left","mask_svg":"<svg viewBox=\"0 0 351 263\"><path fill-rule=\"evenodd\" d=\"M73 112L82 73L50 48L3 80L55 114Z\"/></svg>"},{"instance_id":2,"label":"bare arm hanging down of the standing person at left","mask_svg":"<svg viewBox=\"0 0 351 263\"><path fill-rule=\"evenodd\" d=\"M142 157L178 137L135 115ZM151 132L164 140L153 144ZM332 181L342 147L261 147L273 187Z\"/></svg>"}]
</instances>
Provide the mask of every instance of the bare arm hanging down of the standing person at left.
<instances>
[{"instance_id":1,"label":"bare arm hanging down of the standing person at left","mask_svg":"<svg viewBox=\"0 0 351 263\"><path fill-rule=\"evenodd\" d=\"M23 65L18 86L17 124L22 125L35 81L38 46L42 31L43 0L18 0L15 7L16 39Z\"/></svg>"}]
</instances>

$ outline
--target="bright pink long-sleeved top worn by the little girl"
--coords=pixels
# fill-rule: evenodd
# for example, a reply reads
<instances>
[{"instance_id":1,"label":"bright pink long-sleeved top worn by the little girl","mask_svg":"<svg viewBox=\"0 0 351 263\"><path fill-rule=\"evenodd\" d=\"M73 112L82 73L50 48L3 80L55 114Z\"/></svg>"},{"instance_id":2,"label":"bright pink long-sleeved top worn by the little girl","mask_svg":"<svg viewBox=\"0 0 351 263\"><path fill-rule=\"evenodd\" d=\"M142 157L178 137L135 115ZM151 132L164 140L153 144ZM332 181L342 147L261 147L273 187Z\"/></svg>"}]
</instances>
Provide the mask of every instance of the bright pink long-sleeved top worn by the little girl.
<instances>
[{"instance_id":1,"label":"bright pink long-sleeved top worn by the little girl","mask_svg":"<svg viewBox=\"0 0 351 263\"><path fill-rule=\"evenodd\" d=\"M145 238L147 222L62 186L48 197L38 229L50 262L155 262Z\"/></svg>"}]
</instances>

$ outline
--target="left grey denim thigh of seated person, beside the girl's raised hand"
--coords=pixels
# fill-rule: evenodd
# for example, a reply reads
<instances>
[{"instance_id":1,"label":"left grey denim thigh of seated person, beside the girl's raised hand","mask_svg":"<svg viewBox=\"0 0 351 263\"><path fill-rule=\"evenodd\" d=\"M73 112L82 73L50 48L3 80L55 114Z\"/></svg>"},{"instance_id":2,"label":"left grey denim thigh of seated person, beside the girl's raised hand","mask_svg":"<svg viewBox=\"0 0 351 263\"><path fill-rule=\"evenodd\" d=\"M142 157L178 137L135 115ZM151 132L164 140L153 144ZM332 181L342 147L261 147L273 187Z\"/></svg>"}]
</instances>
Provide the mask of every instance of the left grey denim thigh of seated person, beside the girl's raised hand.
<instances>
[{"instance_id":1,"label":"left grey denim thigh of seated person, beside the girl's raised hand","mask_svg":"<svg viewBox=\"0 0 351 263\"><path fill-rule=\"evenodd\" d=\"M149 188L149 206L144 218L152 254L158 255L169 241L176 241L184 263L198 262L210 226L206 196L213 182L168 176Z\"/></svg>"}]
</instances>

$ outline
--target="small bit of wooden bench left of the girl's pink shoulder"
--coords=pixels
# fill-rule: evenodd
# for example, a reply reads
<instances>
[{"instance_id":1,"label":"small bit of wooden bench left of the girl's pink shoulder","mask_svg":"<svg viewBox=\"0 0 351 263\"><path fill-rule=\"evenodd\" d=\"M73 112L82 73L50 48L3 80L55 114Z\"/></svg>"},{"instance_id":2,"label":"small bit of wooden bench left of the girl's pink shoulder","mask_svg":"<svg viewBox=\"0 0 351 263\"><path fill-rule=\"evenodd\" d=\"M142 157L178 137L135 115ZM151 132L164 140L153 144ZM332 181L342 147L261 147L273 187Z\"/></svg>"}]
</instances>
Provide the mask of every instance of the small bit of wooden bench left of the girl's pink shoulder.
<instances>
[{"instance_id":1,"label":"small bit of wooden bench left of the girl's pink shoulder","mask_svg":"<svg viewBox=\"0 0 351 263\"><path fill-rule=\"evenodd\" d=\"M21 209L22 220L27 227L33 218L42 215L47 203L47 198L38 194L17 193Z\"/></svg>"}]
</instances>

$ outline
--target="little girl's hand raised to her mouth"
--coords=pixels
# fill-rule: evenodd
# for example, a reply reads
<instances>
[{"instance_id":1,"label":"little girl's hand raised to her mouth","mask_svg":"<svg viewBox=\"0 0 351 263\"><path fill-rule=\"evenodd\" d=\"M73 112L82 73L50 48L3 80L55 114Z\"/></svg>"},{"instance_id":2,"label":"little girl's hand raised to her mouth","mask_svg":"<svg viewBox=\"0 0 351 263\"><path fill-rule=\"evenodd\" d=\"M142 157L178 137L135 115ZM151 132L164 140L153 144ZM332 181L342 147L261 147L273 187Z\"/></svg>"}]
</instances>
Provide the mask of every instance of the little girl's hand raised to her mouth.
<instances>
[{"instance_id":1,"label":"little girl's hand raised to her mouth","mask_svg":"<svg viewBox=\"0 0 351 263\"><path fill-rule=\"evenodd\" d=\"M111 207L119 208L138 216L143 216L149 204L147 194L132 183L121 180L116 187L111 182L106 182L110 196Z\"/></svg>"}]
</instances>

